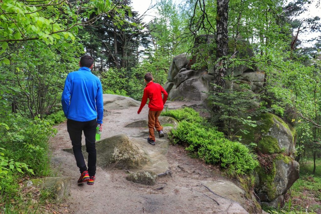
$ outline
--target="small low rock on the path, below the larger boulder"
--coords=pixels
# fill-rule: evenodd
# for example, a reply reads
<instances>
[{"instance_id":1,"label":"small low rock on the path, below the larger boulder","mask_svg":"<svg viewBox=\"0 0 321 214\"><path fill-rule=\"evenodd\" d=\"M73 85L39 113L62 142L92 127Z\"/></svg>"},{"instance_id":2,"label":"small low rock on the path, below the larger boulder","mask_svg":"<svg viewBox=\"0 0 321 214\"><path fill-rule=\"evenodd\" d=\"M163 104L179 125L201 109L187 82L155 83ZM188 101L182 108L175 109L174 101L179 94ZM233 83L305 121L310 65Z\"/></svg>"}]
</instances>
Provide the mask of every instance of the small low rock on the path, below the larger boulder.
<instances>
[{"instance_id":1,"label":"small low rock on the path, below the larger boulder","mask_svg":"<svg viewBox=\"0 0 321 214\"><path fill-rule=\"evenodd\" d=\"M127 175L126 180L138 184L155 185L157 183L157 174L149 170L140 170Z\"/></svg>"}]
</instances>

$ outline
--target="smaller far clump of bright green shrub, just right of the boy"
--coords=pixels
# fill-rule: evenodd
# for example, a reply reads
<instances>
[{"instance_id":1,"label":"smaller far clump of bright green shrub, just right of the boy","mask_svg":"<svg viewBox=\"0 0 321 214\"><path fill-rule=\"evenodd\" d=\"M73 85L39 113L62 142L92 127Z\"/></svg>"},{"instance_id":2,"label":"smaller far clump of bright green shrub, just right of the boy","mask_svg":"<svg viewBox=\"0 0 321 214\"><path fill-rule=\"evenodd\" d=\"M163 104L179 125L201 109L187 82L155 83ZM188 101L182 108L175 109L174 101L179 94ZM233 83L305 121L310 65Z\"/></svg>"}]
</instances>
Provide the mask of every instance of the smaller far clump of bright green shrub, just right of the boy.
<instances>
[{"instance_id":1,"label":"smaller far clump of bright green shrub, just right of the boy","mask_svg":"<svg viewBox=\"0 0 321 214\"><path fill-rule=\"evenodd\" d=\"M168 110L163 111L161 116L169 116L173 117L178 121L186 120L186 121L194 121L196 123L204 122L204 118L200 116L200 114L195 111L193 108L185 107L176 110Z\"/></svg>"}]
</instances>

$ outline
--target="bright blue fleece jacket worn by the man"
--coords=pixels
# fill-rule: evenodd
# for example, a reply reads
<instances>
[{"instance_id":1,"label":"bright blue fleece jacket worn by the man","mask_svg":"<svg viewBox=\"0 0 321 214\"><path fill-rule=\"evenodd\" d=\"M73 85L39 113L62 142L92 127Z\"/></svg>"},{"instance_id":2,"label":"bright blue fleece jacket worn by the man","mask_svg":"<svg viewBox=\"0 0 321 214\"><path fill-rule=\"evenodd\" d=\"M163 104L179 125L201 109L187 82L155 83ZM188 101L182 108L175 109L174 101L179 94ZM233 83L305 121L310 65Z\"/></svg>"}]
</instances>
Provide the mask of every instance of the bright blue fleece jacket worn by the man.
<instances>
[{"instance_id":1,"label":"bright blue fleece jacket worn by the man","mask_svg":"<svg viewBox=\"0 0 321 214\"><path fill-rule=\"evenodd\" d=\"M68 119L85 122L97 118L102 124L102 87L98 77L87 67L67 75L61 104Z\"/></svg>"}]
</instances>

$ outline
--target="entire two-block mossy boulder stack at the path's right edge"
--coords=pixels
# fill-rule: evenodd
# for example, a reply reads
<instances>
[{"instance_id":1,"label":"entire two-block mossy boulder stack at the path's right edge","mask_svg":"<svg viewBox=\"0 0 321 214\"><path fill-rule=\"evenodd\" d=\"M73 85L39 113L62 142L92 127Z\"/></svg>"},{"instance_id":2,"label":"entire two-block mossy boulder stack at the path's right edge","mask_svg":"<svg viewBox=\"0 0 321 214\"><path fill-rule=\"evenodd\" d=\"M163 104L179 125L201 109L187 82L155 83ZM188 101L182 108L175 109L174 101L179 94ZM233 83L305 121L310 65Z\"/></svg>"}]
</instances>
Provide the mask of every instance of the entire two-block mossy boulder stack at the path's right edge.
<instances>
[{"instance_id":1,"label":"entire two-block mossy boulder stack at the path's right edge","mask_svg":"<svg viewBox=\"0 0 321 214\"><path fill-rule=\"evenodd\" d=\"M295 155L296 132L280 117L264 113L256 127L246 127L244 144L256 143L261 166L256 168L255 192L261 201L274 204L299 178Z\"/></svg>"}]
</instances>

